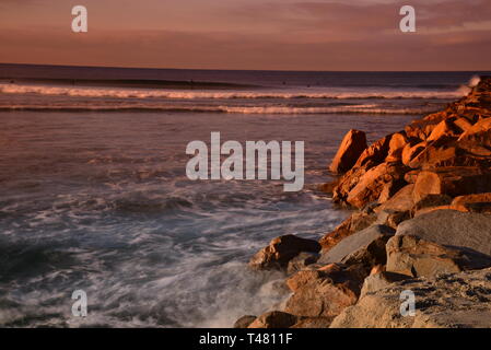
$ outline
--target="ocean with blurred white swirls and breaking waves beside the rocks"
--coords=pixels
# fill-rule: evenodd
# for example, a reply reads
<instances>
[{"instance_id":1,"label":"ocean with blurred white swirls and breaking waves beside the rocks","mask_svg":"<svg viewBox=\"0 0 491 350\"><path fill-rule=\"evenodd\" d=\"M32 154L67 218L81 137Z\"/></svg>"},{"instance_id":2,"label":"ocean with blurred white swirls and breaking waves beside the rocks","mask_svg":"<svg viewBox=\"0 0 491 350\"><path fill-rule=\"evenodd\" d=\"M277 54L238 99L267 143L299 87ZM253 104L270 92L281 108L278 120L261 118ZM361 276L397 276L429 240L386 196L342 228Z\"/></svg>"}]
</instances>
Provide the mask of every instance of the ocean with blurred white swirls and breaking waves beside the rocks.
<instances>
[{"instance_id":1,"label":"ocean with blurred white swirls and breaking waves beside the rocks","mask_svg":"<svg viewBox=\"0 0 491 350\"><path fill-rule=\"evenodd\" d=\"M283 275L247 260L349 214L316 190L344 133L398 131L481 73L0 65L0 326L231 327L278 307ZM304 189L189 180L186 145L212 131L304 141Z\"/></svg>"}]
</instances>

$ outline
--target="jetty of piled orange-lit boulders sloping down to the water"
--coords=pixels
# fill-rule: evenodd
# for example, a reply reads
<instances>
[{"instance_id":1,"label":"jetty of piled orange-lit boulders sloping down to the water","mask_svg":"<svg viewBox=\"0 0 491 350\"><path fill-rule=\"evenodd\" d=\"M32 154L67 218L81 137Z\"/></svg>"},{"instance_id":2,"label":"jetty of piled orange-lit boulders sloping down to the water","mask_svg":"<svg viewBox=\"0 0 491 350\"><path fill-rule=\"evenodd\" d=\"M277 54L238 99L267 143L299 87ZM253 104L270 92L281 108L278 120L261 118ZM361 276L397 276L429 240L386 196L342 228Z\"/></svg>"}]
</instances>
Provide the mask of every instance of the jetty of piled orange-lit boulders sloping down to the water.
<instances>
[{"instance_id":1,"label":"jetty of piled orange-lit boulders sloping down to the water","mask_svg":"<svg viewBox=\"0 0 491 350\"><path fill-rule=\"evenodd\" d=\"M318 242L256 254L249 266L284 270L291 295L236 327L491 327L491 77L371 145L350 130L329 170L322 189L355 211Z\"/></svg>"}]
</instances>

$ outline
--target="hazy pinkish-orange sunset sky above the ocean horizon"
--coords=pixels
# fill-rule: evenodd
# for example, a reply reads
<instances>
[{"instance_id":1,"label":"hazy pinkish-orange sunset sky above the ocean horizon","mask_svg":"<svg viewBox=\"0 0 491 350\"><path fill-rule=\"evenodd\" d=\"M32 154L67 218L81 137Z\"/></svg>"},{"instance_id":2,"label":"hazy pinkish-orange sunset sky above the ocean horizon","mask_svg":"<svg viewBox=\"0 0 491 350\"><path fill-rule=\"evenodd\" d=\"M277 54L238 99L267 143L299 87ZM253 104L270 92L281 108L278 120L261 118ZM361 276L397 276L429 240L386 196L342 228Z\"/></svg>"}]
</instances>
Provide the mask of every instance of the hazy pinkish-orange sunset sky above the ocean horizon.
<instances>
[{"instance_id":1,"label":"hazy pinkish-orange sunset sky above the ocean horizon","mask_svg":"<svg viewBox=\"0 0 491 350\"><path fill-rule=\"evenodd\" d=\"M89 33L71 9L89 10ZM399 9L417 33L399 31ZM491 70L490 0L0 0L0 62Z\"/></svg>"}]
</instances>

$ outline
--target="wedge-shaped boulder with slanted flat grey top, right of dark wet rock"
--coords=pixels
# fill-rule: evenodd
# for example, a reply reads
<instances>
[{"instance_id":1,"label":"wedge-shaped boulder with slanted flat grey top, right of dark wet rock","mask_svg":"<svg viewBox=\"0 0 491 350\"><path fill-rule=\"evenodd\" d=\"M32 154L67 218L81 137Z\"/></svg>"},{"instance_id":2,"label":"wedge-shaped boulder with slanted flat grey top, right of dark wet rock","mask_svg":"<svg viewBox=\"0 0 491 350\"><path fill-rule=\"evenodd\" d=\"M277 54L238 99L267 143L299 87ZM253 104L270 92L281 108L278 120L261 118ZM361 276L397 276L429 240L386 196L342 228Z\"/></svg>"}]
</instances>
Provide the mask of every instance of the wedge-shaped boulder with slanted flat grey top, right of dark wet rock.
<instances>
[{"instance_id":1,"label":"wedge-shaped boulder with slanted flat grey top, right of dark wet rock","mask_svg":"<svg viewBox=\"0 0 491 350\"><path fill-rule=\"evenodd\" d=\"M324 253L318 264L363 264L370 268L378 264L385 265L385 244L395 232L394 229L384 225L370 226L343 238Z\"/></svg>"}]
</instances>

